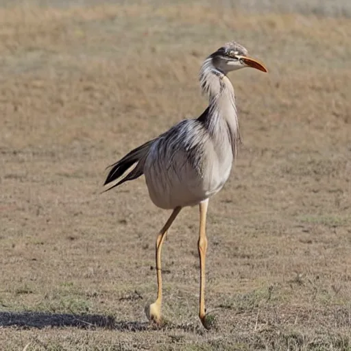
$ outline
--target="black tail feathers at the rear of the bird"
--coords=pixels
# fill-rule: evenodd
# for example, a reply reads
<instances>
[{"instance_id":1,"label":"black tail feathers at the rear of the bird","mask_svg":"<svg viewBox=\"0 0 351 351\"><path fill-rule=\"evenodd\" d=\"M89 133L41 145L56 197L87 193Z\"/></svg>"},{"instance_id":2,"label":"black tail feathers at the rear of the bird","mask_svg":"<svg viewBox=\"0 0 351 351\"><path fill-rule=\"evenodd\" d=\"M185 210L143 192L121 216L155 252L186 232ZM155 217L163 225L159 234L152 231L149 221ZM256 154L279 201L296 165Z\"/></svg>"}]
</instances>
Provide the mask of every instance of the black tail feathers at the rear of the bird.
<instances>
[{"instance_id":1,"label":"black tail feathers at the rear of the bird","mask_svg":"<svg viewBox=\"0 0 351 351\"><path fill-rule=\"evenodd\" d=\"M133 180L143 175L143 165L139 165L139 161L147 155L150 147L152 146L155 140L156 139L153 139L152 141L148 141L147 143L136 147L136 149L133 149L131 152L126 154L123 158L121 158L121 160L117 161L113 165L108 166L108 168L111 169L104 182L104 185L120 178L121 175L125 173L125 171L127 171L130 167L132 167L132 165L136 163L136 167L134 167L134 169L132 169L132 171L130 171L128 175L126 175L122 180L117 182L117 184L114 184L110 188L106 189L106 191L113 189L114 187L119 186L122 183L127 182L128 180Z\"/></svg>"}]
</instances>

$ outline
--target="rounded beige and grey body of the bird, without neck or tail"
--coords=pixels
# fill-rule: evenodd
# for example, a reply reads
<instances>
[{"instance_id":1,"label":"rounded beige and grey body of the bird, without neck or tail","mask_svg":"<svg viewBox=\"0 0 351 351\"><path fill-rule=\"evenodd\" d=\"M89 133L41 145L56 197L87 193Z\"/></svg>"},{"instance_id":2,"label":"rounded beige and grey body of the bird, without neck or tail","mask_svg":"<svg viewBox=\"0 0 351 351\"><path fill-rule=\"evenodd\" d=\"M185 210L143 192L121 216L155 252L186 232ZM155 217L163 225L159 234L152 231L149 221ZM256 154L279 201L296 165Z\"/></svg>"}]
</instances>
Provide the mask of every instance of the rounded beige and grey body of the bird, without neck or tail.
<instances>
[{"instance_id":1,"label":"rounded beige and grey body of the bird, without neck or tail","mask_svg":"<svg viewBox=\"0 0 351 351\"><path fill-rule=\"evenodd\" d=\"M229 152L223 152L223 149ZM145 181L152 202L160 208L194 206L214 195L232 167L230 140L220 147L202 121L189 119L175 125L150 147Z\"/></svg>"}]
</instances>

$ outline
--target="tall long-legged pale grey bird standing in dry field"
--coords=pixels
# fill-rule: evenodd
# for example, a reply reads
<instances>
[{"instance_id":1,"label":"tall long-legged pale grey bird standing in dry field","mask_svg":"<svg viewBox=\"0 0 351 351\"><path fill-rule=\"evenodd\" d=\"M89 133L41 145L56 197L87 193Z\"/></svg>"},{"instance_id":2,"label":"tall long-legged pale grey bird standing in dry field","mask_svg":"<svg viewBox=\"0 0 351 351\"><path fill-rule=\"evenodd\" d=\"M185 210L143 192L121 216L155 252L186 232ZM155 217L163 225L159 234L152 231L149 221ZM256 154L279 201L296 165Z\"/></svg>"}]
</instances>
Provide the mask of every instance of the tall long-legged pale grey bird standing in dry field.
<instances>
[{"instance_id":1,"label":"tall long-legged pale grey bird standing in dry field","mask_svg":"<svg viewBox=\"0 0 351 351\"><path fill-rule=\"evenodd\" d=\"M180 121L108 166L104 186L119 181L105 191L145 175L152 202L172 210L156 239L157 298L145 307L149 321L157 325L162 324L162 244L182 208L198 205L199 319L205 328L210 328L212 319L206 317L205 308L206 215L210 197L222 189L230 176L241 143L234 88L228 73L245 67L267 72L263 63L248 56L247 49L236 41L211 53L199 71L202 93L208 97L206 110L197 119Z\"/></svg>"}]
</instances>

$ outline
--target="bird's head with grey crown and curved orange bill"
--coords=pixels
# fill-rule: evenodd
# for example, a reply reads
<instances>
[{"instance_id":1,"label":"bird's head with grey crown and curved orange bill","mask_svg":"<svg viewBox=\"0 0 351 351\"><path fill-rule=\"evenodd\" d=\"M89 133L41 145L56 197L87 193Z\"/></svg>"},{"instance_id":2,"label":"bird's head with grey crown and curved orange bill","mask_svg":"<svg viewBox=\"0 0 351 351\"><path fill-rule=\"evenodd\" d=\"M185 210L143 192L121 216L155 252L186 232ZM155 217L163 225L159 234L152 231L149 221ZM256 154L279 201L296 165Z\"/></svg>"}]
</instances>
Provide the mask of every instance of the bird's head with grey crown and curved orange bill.
<instances>
[{"instance_id":1,"label":"bird's head with grey crown and curved orange bill","mask_svg":"<svg viewBox=\"0 0 351 351\"><path fill-rule=\"evenodd\" d=\"M244 67L252 67L259 71L267 72L261 62L247 56L247 49L234 41L226 43L212 55L210 55L213 65L224 74Z\"/></svg>"}]
</instances>

